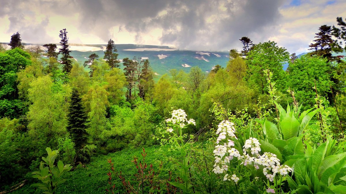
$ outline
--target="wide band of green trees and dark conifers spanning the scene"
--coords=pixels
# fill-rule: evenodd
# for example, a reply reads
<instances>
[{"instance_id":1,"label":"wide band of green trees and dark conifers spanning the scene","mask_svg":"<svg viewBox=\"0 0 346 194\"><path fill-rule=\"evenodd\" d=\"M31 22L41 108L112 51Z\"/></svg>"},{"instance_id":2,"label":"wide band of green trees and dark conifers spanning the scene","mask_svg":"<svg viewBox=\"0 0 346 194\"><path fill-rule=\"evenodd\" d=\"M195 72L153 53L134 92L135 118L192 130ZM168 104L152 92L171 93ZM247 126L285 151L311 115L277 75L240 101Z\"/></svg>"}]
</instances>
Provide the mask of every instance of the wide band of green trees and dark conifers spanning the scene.
<instances>
[{"instance_id":1,"label":"wide band of green trees and dark conifers spanning the scene","mask_svg":"<svg viewBox=\"0 0 346 194\"><path fill-rule=\"evenodd\" d=\"M337 21L339 28L321 26L312 52L300 58L273 41L254 44L242 37L242 52L231 50L226 68L218 65L209 74L197 66L188 74L171 69L157 83L148 60L125 58L120 65L112 40L105 60L92 54L82 65L71 60L66 29L60 31L59 52L55 44L44 45L47 58L40 56L40 47L23 50L20 34L13 34L11 49L0 47L0 190L30 178L46 147L58 149L64 163L77 165L95 153L157 144L156 126L173 109L195 119L196 127L186 133L203 140L213 127L214 102L234 113L274 120L277 108L271 102L292 103L294 93L302 109L322 109L317 119L327 121L320 126L326 133L342 136L345 62L332 54L346 49L346 25L342 18ZM309 133L314 143L324 140L319 130Z\"/></svg>"}]
</instances>

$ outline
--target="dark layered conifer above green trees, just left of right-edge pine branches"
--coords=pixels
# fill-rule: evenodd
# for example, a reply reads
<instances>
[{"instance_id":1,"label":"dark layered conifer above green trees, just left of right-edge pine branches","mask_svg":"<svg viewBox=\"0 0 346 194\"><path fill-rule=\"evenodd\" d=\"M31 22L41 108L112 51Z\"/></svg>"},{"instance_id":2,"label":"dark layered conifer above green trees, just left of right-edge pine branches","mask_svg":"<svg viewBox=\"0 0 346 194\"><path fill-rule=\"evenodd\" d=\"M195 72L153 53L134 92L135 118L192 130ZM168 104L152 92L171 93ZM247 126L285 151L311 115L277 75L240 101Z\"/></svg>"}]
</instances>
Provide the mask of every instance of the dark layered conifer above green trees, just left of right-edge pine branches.
<instances>
[{"instance_id":1,"label":"dark layered conifer above green trees, just left of right-edge pine branches","mask_svg":"<svg viewBox=\"0 0 346 194\"><path fill-rule=\"evenodd\" d=\"M332 54L331 45L334 44L334 40L331 39L331 26L322 25L319 27L319 32L315 34L315 40L309 45L310 49L313 50L309 53L310 56L316 55L319 57L327 57L328 61L334 61L335 57Z\"/></svg>"}]
</instances>

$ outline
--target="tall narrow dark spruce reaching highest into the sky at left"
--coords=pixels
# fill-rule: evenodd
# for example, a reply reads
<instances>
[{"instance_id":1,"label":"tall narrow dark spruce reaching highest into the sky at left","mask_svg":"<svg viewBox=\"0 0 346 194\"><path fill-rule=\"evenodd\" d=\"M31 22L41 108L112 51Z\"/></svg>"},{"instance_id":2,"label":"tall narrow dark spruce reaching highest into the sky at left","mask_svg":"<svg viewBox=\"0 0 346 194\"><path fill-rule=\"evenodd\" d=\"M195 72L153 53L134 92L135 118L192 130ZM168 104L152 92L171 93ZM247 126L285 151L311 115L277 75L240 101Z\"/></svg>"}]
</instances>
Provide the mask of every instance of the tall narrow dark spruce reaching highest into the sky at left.
<instances>
[{"instance_id":1,"label":"tall narrow dark spruce reaching highest into the sky at left","mask_svg":"<svg viewBox=\"0 0 346 194\"><path fill-rule=\"evenodd\" d=\"M67 38L67 31L66 28L63 30L60 30L60 35L59 37L61 38L60 40L60 45L61 45L61 49L59 49L60 54L62 55L61 57L61 63L63 64L63 71L69 73L72 69L72 61L69 60L70 58L72 58L70 56L70 50L69 50L69 45L68 43L68 39Z\"/></svg>"}]
</instances>

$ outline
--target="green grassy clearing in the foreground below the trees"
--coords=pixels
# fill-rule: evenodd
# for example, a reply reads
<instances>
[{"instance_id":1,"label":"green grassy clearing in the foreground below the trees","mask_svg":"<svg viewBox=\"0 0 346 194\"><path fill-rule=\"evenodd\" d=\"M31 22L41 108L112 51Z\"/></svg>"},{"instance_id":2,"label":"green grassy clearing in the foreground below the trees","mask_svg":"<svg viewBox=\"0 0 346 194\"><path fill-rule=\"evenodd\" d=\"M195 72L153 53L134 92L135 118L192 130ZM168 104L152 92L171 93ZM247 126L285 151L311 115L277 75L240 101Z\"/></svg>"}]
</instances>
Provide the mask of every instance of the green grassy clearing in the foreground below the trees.
<instances>
[{"instance_id":1,"label":"green grassy clearing in the foreground below the trees","mask_svg":"<svg viewBox=\"0 0 346 194\"><path fill-rule=\"evenodd\" d=\"M153 146L146 148L145 151L147 152L146 163L148 165L153 164L155 170L160 166L161 161L166 161L164 162L165 165L163 166L163 168L172 168L172 165L166 156L170 157L174 155L175 152L169 151L168 146ZM127 148L116 153L93 157L92 161L85 167L79 165L74 169L74 171L70 171L64 174L66 182L58 187L56 193L106 193L105 189L108 186L108 176L106 173L108 173L110 167L107 159L109 158L112 158L115 171L122 171L122 175L126 178L126 180L134 183L134 181L132 181L132 179L134 178L133 174L136 173L137 169L135 167L135 164L131 161L133 161L134 156L137 156L139 160L142 160L143 157L141 153L142 148ZM115 178L114 183L116 185L116 193L124 193L120 179L116 175L113 175L113 178ZM165 184L165 180L168 179L168 174L166 173L166 171L163 171L159 175L159 178L160 180L162 180L162 184ZM36 179L33 181L37 182ZM13 193L42 193L41 190L37 189L36 191L36 188L30 187L30 184L31 183L27 183L25 186Z\"/></svg>"}]
</instances>

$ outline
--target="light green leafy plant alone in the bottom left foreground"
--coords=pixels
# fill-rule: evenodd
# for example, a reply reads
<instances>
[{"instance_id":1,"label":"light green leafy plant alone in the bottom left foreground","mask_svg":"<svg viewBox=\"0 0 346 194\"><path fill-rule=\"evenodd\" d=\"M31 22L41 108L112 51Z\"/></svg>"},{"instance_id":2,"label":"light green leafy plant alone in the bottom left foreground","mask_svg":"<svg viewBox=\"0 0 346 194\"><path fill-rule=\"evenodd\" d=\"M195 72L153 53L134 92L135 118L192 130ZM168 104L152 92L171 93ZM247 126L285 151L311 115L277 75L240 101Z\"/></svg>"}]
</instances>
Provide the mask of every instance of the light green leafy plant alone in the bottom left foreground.
<instances>
[{"instance_id":1,"label":"light green leafy plant alone in the bottom left foreground","mask_svg":"<svg viewBox=\"0 0 346 194\"><path fill-rule=\"evenodd\" d=\"M44 193L54 194L57 190L58 185L64 183L66 180L61 176L67 171L71 170L70 164L64 166L62 161L57 162L57 167L54 165L55 159L58 156L59 151L52 151L51 148L47 147L46 151L48 156L42 157L43 162L41 162L39 170L33 172L33 178L37 178L42 181L42 183L34 183L31 186L38 187L44 190Z\"/></svg>"}]
</instances>

